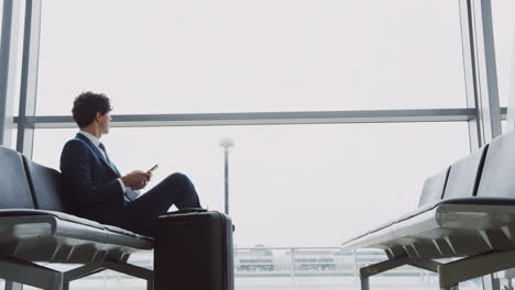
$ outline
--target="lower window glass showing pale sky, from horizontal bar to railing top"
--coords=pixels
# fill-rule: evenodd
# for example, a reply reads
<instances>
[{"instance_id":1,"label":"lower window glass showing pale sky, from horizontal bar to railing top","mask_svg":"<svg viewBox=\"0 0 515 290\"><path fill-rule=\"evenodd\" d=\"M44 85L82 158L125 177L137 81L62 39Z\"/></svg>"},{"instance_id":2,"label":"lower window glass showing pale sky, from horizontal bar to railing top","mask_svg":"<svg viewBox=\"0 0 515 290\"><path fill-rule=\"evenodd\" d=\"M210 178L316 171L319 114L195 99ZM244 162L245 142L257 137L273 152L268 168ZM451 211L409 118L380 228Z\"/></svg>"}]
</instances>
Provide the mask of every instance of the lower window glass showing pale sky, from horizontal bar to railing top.
<instances>
[{"instance_id":1,"label":"lower window glass showing pale sky, from horizontal bar to railing top","mask_svg":"<svg viewBox=\"0 0 515 290\"><path fill-rule=\"evenodd\" d=\"M58 168L75 132L36 130L34 159ZM234 142L229 185L238 247L338 246L413 210L425 179L469 153L467 122L113 127L102 142L122 174L160 164L152 187L185 172L202 205L223 211L223 137Z\"/></svg>"}]
</instances>

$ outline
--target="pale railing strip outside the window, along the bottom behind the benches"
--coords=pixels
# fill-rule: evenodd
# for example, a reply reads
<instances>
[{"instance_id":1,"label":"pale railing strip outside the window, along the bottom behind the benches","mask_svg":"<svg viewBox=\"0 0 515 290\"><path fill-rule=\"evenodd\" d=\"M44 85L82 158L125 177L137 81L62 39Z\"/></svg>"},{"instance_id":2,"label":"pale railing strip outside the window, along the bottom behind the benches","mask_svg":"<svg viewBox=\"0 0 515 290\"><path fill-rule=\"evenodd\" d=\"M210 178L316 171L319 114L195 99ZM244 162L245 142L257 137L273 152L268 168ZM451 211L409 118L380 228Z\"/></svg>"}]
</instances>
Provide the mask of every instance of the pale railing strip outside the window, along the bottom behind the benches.
<instances>
[{"instance_id":1,"label":"pale railing strip outside the window, along the bottom behind the benches","mask_svg":"<svg viewBox=\"0 0 515 290\"><path fill-rule=\"evenodd\" d=\"M234 249L234 275L238 290L359 289L359 269L386 259L380 250L342 252L338 247L264 247ZM131 264L153 268L153 253L134 254ZM76 265L44 266L61 271ZM173 275L173 274L171 274ZM372 288L438 289L435 274L403 266L372 278ZM3 283L0 285L0 289ZM145 289L143 280L106 270L72 282L74 290ZM24 289L35 289L24 287ZM482 289L480 281L460 285L460 289Z\"/></svg>"}]
</instances>

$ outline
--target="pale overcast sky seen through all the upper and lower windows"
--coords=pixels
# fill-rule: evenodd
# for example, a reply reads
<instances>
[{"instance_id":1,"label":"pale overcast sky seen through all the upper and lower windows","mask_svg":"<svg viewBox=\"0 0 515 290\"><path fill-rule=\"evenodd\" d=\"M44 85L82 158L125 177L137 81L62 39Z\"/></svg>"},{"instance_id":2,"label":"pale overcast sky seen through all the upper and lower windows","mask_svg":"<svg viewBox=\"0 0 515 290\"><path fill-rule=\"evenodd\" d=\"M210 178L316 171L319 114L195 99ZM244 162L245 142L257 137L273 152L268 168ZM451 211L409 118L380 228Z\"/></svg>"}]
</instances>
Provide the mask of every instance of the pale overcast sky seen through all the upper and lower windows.
<instances>
[{"instance_id":1,"label":"pale overcast sky seen through all the upper and lower windows","mask_svg":"<svg viewBox=\"0 0 515 290\"><path fill-rule=\"evenodd\" d=\"M512 2L493 0L504 105ZM48 0L37 113L69 114L85 90L107 93L113 114L463 108L458 9L449 0ZM75 132L37 130L34 159L57 168ZM121 171L158 163L151 186L183 171L204 205L222 210L222 137L235 143L238 246L338 246L414 209L424 180L469 153L467 123L112 129L102 141Z\"/></svg>"}]
</instances>

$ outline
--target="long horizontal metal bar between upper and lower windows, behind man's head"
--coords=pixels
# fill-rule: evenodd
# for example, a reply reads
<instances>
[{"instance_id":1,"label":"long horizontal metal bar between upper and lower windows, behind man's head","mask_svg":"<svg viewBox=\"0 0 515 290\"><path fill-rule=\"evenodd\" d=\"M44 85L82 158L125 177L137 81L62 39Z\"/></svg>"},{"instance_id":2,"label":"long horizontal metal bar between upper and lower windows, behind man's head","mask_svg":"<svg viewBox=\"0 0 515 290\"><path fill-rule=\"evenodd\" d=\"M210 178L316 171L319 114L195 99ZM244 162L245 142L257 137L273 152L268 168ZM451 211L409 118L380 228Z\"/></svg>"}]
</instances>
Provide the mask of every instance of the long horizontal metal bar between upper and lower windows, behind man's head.
<instances>
[{"instance_id":1,"label":"long horizontal metal bar between upper and lower windows, behind man's head","mask_svg":"<svg viewBox=\"0 0 515 290\"><path fill-rule=\"evenodd\" d=\"M473 109L376 110L330 112L246 112L204 114L128 114L112 115L112 126L212 126L212 125L284 125L339 123L410 123L467 122L474 119ZM15 118L18 123L21 119ZM36 129L76 127L72 116L26 116L25 126Z\"/></svg>"}]
</instances>

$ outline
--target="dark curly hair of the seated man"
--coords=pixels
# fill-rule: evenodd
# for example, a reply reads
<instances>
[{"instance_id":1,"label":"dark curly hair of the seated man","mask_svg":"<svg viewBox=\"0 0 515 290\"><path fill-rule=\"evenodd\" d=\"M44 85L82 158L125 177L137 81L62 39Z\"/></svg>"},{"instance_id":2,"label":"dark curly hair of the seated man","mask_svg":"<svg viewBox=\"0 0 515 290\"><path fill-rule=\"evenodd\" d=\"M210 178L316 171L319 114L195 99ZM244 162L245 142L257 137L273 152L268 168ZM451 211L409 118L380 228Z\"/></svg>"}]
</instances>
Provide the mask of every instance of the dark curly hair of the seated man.
<instances>
[{"instance_id":1,"label":"dark curly hair of the seated man","mask_svg":"<svg viewBox=\"0 0 515 290\"><path fill-rule=\"evenodd\" d=\"M110 111L111 101L106 94L86 91L75 98L72 114L79 127L86 127L94 122L97 112L105 115Z\"/></svg>"}]
</instances>

